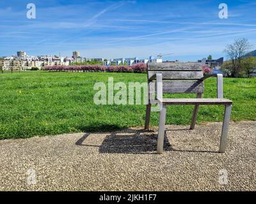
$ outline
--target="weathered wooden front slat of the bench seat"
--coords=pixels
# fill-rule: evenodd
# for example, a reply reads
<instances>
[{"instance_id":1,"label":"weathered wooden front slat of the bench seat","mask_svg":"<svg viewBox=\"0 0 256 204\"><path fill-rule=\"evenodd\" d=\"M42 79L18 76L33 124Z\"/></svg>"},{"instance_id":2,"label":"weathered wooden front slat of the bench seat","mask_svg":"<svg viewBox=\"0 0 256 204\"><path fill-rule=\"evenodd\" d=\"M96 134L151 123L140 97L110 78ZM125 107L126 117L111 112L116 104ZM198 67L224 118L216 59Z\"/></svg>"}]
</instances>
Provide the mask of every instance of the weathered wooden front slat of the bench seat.
<instances>
[{"instance_id":1,"label":"weathered wooden front slat of the bench seat","mask_svg":"<svg viewBox=\"0 0 256 204\"><path fill-rule=\"evenodd\" d=\"M232 101L223 98L165 98L163 103L172 105L231 105Z\"/></svg>"}]
</instances>

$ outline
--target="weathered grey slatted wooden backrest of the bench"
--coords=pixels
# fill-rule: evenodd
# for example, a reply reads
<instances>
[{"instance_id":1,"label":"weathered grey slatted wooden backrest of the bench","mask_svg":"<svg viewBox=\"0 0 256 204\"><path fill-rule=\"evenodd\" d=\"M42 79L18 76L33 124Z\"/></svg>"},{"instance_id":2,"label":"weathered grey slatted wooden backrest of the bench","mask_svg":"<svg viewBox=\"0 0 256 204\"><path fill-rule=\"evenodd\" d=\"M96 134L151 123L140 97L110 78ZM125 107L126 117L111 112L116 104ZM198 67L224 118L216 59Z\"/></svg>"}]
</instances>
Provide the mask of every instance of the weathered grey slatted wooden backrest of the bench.
<instances>
[{"instance_id":1,"label":"weathered grey slatted wooden backrest of the bench","mask_svg":"<svg viewBox=\"0 0 256 204\"><path fill-rule=\"evenodd\" d=\"M148 63L148 85L150 94L155 92L156 80L150 78L156 73L163 75L163 93L203 93L204 77L200 63L163 62Z\"/></svg>"}]
</instances>

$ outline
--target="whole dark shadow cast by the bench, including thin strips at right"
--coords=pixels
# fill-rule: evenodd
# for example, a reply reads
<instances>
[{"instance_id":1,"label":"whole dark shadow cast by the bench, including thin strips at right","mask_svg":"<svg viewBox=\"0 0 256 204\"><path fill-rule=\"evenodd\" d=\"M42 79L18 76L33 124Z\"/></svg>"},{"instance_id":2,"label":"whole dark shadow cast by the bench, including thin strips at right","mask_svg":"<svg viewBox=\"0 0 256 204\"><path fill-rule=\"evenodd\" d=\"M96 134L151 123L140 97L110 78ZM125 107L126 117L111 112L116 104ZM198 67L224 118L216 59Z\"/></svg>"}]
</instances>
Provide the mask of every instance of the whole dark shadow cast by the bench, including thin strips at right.
<instances>
[{"instance_id":1,"label":"whole dark shadow cast by the bench, including thin strips at right","mask_svg":"<svg viewBox=\"0 0 256 204\"><path fill-rule=\"evenodd\" d=\"M88 131L89 127L86 127L84 131ZM92 133L86 133L79 140L77 140L76 145L84 147L97 147L99 148L100 154L156 154L157 149L157 132L146 131L145 129L131 129L131 128L121 128L119 126L113 125L99 125L90 126ZM99 129L104 129L102 132ZM166 129L167 131L180 131L188 129ZM172 145L168 141L164 134L164 151L173 152L201 152L201 153L218 153L218 151L212 150L191 150L189 149L173 149ZM104 134L103 142L100 145L93 145L90 142L86 143L86 139L91 136L91 134Z\"/></svg>"}]
</instances>

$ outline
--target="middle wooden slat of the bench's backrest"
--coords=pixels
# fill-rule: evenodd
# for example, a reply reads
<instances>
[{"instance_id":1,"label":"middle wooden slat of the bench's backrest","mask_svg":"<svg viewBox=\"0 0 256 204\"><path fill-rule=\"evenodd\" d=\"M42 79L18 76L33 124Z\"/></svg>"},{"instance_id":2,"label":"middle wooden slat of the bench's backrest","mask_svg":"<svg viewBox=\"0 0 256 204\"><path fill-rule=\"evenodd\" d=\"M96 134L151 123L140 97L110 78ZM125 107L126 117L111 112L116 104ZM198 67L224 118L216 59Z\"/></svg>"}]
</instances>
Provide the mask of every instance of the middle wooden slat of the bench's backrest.
<instances>
[{"instance_id":1,"label":"middle wooden slat of the bench's backrest","mask_svg":"<svg viewBox=\"0 0 256 204\"><path fill-rule=\"evenodd\" d=\"M148 79L150 79L156 73L161 73L163 75L163 80L166 79L200 79L204 77L202 71L148 71Z\"/></svg>"}]
</instances>

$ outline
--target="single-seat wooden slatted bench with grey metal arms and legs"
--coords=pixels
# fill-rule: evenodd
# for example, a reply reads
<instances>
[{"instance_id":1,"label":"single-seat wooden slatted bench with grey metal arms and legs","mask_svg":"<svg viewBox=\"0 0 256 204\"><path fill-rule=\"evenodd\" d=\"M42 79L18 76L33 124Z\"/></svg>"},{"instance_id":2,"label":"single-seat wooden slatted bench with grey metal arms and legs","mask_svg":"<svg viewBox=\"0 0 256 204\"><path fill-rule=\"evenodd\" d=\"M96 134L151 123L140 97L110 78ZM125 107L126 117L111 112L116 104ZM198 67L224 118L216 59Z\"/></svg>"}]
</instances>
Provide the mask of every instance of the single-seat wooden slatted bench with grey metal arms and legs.
<instances>
[{"instance_id":1,"label":"single-seat wooden slatted bench with grey metal arms and legs","mask_svg":"<svg viewBox=\"0 0 256 204\"><path fill-rule=\"evenodd\" d=\"M204 77L199 63L164 62L148 63L148 105L146 110L145 129L149 128L152 104L159 105L159 131L157 137L157 153L163 153L164 125L166 105L195 105L190 129L195 128L199 105L225 105L225 114L220 140L219 152L224 153L227 144L228 124L232 101L223 98L223 76L206 75ZM217 77L217 98L202 98L204 80ZM163 98L163 94L196 93L196 98Z\"/></svg>"}]
</instances>

